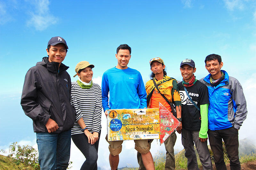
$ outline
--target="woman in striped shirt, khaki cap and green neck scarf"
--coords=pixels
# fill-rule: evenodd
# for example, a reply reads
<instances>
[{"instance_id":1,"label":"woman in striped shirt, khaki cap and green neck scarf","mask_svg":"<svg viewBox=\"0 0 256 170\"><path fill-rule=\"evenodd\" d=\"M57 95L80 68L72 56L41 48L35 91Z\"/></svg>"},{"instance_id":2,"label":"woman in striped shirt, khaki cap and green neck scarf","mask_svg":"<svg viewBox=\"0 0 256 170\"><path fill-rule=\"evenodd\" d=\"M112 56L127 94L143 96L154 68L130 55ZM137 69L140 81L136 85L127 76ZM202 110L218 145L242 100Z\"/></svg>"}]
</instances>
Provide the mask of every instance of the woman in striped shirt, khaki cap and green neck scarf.
<instances>
[{"instance_id":1,"label":"woman in striped shirt, khaki cap and green neck scarf","mask_svg":"<svg viewBox=\"0 0 256 170\"><path fill-rule=\"evenodd\" d=\"M76 108L71 137L86 158L81 170L97 170L102 98L100 86L92 83L93 67L87 61L79 62L75 69L78 80L72 82L71 88L71 104Z\"/></svg>"}]
</instances>

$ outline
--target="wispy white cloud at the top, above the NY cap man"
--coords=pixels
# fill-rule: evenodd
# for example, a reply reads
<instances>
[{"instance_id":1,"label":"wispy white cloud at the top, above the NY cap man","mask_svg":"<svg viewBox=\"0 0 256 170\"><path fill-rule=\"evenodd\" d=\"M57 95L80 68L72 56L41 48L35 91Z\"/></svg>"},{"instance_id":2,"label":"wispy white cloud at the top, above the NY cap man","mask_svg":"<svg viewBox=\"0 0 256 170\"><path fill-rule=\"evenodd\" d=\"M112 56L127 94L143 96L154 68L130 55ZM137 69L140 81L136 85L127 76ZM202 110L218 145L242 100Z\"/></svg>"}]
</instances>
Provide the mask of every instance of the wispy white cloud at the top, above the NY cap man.
<instances>
[{"instance_id":1,"label":"wispy white cloud at the top, above the NY cap man","mask_svg":"<svg viewBox=\"0 0 256 170\"><path fill-rule=\"evenodd\" d=\"M30 12L31 18L27 21L27 25L42 31L47 27L56 24L58 18L51 14L49 4L49 0L35 0L33 2L35 10Z\"/></svg>"}]
</instances>

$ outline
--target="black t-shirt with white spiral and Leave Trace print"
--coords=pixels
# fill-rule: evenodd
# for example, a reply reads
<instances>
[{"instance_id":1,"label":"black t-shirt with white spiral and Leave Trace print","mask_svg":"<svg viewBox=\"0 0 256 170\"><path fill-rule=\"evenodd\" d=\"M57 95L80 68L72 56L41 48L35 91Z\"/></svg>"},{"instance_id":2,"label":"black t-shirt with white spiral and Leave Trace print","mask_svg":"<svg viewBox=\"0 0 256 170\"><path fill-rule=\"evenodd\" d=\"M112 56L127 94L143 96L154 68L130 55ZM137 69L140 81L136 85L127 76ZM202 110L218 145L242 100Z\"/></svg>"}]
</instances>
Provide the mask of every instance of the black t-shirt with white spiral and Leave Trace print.
<instances>
[{"instance_id":1,"label":"black t-shirt with white spiral and Leave Trace print","mask_svg":"<svg viewBox=\"0 0 256 170\"><path fill-rule=\"evenodd\" d=\"M188 130L200 130L201 114L193 103L189 100L184 90L182 82L178 84L180 91L180 99L182 104L182 128ZM196 81L191 87L186 87L190 98L200 108L200 105L209 104L208 88L200 81Z\"/></svg>"}]
</instances>

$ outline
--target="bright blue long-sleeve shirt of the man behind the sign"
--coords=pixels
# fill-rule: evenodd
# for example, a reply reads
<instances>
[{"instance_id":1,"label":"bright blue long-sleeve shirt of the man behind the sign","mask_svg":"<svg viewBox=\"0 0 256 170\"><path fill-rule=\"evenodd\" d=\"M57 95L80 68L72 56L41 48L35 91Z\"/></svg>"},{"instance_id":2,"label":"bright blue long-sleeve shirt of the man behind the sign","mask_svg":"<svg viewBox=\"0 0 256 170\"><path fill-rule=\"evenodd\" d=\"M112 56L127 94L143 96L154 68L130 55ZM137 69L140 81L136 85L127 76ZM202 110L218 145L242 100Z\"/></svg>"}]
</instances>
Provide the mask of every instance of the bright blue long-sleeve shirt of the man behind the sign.
<instances>
[{"instance_id":1,"label":"bright blue long-sleeve shirt of the man behind the sign","mask_svg":"<svg viewBox=\"0 0 256 170\"><path fill-rule=\"evenodd\" d=\"M108 69L102 76L101 91L104 112L108 109L147 107L145 86L140 72L135 69Z\"/></svg>"}]
</instances>

